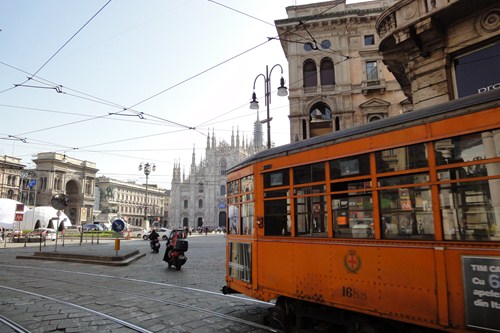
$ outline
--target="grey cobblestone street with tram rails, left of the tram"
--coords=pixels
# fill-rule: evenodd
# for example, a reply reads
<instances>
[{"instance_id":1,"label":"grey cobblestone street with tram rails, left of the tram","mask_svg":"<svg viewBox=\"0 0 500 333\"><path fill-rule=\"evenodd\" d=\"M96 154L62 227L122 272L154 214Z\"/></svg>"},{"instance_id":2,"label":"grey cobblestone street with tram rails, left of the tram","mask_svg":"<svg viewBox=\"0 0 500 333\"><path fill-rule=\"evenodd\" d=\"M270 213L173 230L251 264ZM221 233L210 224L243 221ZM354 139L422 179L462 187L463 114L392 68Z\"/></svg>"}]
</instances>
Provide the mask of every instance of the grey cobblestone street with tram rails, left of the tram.
<instances>
[{"instance_id":1,"label":"grey cobblestone street with tram rails, left of the tram","mask_svg":"<svg viewBox=\"0 0 500 333\"><path fill-rule=\"evenodd\" d=\"M0 314L29 332L265 332L269 304L224 296L223 234L188 238L188 262L167 269L149 242L122 240L120 252L146 255L127 266L23 260L39 244L7 243L2 265ZM114 240L68 241L57 252L110 253ZM55 251L55 242L42 252ZM9 332L5 323L1 332ZM12 330L12 332L15 332Z\"/></svg>"}]
</instances>

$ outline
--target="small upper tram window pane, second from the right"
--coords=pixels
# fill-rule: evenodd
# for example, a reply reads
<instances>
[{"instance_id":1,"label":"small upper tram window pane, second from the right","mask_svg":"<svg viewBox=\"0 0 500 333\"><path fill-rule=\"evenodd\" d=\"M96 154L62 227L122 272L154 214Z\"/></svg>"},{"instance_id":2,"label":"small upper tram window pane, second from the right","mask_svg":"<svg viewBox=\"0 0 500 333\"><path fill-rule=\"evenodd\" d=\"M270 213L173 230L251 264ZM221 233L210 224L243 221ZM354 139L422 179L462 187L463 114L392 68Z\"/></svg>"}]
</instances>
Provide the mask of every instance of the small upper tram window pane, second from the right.
<instances>
[{"instance_id":1,"label":"small upper tram window pane, second from the right","mask_svg":"<svg viewBox=\"0 0 500 333\"><path fill-rule=\"evenodd\" d=\"M377 172L402 171L428 166L427 146L416 144L375 153Z\"/></svg>"}]
</instances>

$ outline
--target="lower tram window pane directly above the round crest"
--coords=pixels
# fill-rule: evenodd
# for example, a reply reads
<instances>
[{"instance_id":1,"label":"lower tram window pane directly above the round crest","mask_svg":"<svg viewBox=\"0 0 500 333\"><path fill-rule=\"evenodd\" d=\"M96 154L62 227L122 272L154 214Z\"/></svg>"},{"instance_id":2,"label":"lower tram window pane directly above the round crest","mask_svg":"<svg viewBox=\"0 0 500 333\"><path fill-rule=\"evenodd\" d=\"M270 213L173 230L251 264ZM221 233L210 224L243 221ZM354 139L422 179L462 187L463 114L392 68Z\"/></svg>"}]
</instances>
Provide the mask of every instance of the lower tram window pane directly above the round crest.
<instances>
[{"instance_id":1,"label":"lower tram window pane directly above the round crest","mask_svg":"<svg viewBox=\"0 0 500 333\"><path fill-rule=\"evenodd\" d=\"M333 235L337 238L373 238L373 204L369 194L332 195Z\"/></svg>"}]
</instances>

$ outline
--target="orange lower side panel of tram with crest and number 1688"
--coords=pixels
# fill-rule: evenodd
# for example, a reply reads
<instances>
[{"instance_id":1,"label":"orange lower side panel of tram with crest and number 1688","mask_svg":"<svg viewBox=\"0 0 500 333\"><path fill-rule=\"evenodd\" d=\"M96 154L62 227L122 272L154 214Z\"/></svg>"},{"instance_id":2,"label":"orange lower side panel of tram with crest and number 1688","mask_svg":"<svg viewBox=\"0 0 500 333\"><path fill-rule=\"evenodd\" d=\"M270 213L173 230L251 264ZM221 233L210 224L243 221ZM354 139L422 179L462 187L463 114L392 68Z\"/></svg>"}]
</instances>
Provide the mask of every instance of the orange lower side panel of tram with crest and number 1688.
<instances>
[{"instance_id":1,"label":"orange lower side panel of tram with crest and number 1688","mask_svg":"<svg viewBox=\"0 0 500 333\"><path fill-rule=\"evenodd\" d=\"M432 248L261 241L256 264L263 294L438 325Z\"/></svg>"}]
</instances>

